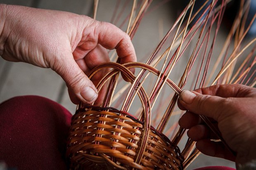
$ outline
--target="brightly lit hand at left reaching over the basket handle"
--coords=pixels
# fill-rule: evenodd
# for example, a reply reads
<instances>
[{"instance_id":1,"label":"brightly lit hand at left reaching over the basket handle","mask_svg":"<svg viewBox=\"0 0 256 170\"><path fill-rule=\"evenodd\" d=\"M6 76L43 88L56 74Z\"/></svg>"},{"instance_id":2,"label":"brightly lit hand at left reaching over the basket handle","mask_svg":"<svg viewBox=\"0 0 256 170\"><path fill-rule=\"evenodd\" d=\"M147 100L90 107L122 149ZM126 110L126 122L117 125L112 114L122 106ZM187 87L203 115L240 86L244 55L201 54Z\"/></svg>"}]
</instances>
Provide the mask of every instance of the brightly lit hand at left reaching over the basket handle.
<instances>
[{"instance_id":1,"label":"brightly lit hand at left reaching over the basket handle","mask_svg":"<svg viewBox=\"0 0 256 170\"><path fill-rule=\"evenodd\" d=\"M90 70L109 62L107 49L116 48L121 64L135 62L130 37L110 23L64 11L0 5L0 55L56 71L73 103L92 103L104 72L89 80Z\"/></svg>"}]
</instances>

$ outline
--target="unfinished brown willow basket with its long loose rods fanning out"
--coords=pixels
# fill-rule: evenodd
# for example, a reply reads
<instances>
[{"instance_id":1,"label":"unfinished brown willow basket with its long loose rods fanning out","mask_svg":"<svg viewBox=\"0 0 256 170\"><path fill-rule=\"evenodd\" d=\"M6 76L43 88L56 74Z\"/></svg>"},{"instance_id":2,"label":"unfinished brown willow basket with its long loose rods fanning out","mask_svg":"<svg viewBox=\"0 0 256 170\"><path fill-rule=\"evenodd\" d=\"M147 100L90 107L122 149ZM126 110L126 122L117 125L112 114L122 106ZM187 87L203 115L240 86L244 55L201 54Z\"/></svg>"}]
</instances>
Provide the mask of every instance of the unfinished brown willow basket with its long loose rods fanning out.
<instances>
[{"instance_id":1,"label":"unfinished brown willow basket with its long loose rods fanning out","mask_svg":"<svg viewBox=\"0 0 256 170\"><path fill-rule=\"evenodd\" d=\"M179 144L185 129L177 123L171 127L167 126L171 115L175 115L178 96L187 82L190 83L191 90L214 84L241 83L251 87L256 84L256 38L245 40L256 18L255 14L249 25L245 26L249 0L241 0L222 50L218 52L216 59L211 57L218 41L217 35L223 23L225 8L230 1L206 0L204 5L194 12L196 0L190 0L145 63L119 64L117 60L102 64L91 71L89 78L93 78L102 69L109 69L97 84L99 91L107 86L107 92L101 106L80 103L72 118L66 152L71 169L187 168L199 151L190 139L187 139L185 146L180 150ZM143 0L141 3L133 1L127 26L131 39L135 36L151 2L152 0ZM95 0L94 18L97 4L98 1ZM196 17L199 12L201 16ZM159 54L166 45L164 52ZM188 47L192 47L192 52L187 57L184 54ZM241 57L242 64L237 66L236 62ZM179 61L186 61L187 65L175 83L169 77ZM162 64L161 67L159 64ZM160 69L156 69L157 67ZM139 73L133 75L129 70L131 68L136 68ZM120 83L120 73L128 80L127 85ZM151 76L155 76L155 81L151 82L153 87L147 92L145 82ZM164 96L161 91L166 92L165 85L173 93L165 102L159 104L161 107L157 107L157 100L162 100ZM137 113L131 113L131 106L137 102L136 99L140 100L141 107L137 108ZM161 110L164 110L162 115ZM154 121L151 121L152 114L156 115ZM201 118L225 144L216 126L207 117ZM152 122L155 126L152 126ZM165 130L167 133L164 134Z\"/></svg>"}]
</instances>

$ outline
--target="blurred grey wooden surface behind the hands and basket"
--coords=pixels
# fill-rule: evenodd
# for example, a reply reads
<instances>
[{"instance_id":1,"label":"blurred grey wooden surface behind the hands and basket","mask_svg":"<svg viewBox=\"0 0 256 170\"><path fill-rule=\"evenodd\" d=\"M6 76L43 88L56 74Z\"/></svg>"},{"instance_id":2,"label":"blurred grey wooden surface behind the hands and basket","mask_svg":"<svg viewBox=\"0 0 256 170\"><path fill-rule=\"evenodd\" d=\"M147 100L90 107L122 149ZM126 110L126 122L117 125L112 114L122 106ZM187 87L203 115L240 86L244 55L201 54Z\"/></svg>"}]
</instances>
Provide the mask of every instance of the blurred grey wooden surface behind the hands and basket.
<instances>
[{"instance_id":1,"label":"blurred grey wooden surface behind the hands and basket","mask_svg":"<svg viewBox=\"0 0 256 170\"><path fill-rule=\"evenodd\" d=\"M0 0L0 3L5 4L63 10L89 16L92 14L92 2L92 0ZM101 0L97 19L110 21L115 3L115 0ZM153 7L157 3L159 3L158 0L153 3ZM128 3L128 5L131 4L132 1ZM130 10L130 7L124 10ZM173 12L171 12L171 7L168 5L146 14L133 39L138 61L141 61L143 57L148 57L152 49L164 36L163 34L170 28L175 20L175 17L171 17L171 15L173 15ZM120 22L118 24L120 25ZM0 102L19 95L45 96L59 102L71 113L75 112L76 105L71 103L64 81L54 71L26 63L7 62L0 57ZM210 165L235 167L235 163L231 161L200 155L188 169Z\"/></svg>"}]
</instances>

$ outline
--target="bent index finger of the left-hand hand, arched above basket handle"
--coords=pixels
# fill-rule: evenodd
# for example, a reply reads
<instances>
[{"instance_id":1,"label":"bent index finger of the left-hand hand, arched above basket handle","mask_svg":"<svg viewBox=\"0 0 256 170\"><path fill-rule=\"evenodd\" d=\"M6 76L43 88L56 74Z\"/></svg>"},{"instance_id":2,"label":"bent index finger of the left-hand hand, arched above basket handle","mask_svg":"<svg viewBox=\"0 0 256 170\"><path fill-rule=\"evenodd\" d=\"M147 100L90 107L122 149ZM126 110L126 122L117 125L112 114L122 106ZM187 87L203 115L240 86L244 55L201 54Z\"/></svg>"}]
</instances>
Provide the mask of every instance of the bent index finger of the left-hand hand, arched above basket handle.
<instances>
[{"instance_id":1,"label":"bent index finger of the left-hand hand, arched above basket handle","mask_svg":"<svg viewBox=\"0 0 256 170\"><path fill-rule=\"evenodd\" d=\"M128 34L111 23L99 22L96 27L98 43L108 49L115 48L121 64L137 61L135 49Z\"/></svg>"}]
</instances>

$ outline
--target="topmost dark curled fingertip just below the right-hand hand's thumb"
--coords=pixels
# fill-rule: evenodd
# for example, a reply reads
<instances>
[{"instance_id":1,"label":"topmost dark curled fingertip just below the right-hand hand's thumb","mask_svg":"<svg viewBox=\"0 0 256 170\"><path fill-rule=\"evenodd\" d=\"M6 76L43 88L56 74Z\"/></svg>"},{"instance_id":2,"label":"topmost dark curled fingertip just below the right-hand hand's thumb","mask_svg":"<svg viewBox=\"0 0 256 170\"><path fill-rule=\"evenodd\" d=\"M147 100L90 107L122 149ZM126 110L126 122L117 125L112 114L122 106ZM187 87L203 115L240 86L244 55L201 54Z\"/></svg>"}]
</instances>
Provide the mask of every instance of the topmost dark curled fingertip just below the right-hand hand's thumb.
<instances>
[{"instance_id":1,"label":"topmost dark curled fingertip just below the right-hand hand's thumb","mask_svg":"<svg viewBox=\"0 0 256 170\"><path fill-rule=\"evenodd\" d=\"M186 112L184 115L182 115L182 117L180 117L179 120L179 125L184 129L190 129L191 127L201 123L201 118L198 115L191 112Z\"/></svg>"}]
</instances>

